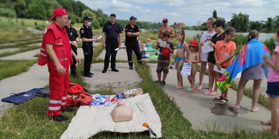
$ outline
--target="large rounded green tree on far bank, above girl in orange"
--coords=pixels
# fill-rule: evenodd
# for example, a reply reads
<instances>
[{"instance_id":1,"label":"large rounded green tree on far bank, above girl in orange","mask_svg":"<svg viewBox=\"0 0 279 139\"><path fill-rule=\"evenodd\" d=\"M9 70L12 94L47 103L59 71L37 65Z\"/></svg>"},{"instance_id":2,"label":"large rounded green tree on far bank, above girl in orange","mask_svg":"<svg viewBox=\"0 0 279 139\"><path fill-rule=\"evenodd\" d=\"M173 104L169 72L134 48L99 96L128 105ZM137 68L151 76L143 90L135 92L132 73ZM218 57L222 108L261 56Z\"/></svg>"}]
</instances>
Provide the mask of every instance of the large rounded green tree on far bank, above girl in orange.
<instances>
[{"instance_id":1,"label":"large rounded green tree on far bank, above girl in orange","mask_svg":"<svg viewBox=\"0 0 279 139\"><path fill-rule=\"evenodd\" d=\"M232 14L232 19L230 20L231 24L230 26L235 28L238 32L246 32L248 29L248 21L249 21L249 15L248 14L242 14L241 12L239 14Z\"/></svg>"}]
</instances>

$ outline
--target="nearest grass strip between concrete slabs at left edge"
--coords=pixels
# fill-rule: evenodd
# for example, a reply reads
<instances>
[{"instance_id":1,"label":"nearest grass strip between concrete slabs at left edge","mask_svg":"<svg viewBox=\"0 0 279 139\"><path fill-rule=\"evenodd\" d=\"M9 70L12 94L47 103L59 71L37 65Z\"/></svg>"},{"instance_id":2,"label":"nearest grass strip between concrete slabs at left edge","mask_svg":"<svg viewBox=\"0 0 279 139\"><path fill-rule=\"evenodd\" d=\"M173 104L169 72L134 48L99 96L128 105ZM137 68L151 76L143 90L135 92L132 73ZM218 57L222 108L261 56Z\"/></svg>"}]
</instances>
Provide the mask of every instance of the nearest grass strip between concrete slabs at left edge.
<instances>
[{"instance_id":1,"label":"nearest grass strip between concrete slabs at left edge","mask_svg":"<svg viewBox=\"0 0 279 139\"><path fill-rule=\"evenodd\" d=\"M0 60L0 80L28 71L38 60Z\"/></svg>"}]
</instances>

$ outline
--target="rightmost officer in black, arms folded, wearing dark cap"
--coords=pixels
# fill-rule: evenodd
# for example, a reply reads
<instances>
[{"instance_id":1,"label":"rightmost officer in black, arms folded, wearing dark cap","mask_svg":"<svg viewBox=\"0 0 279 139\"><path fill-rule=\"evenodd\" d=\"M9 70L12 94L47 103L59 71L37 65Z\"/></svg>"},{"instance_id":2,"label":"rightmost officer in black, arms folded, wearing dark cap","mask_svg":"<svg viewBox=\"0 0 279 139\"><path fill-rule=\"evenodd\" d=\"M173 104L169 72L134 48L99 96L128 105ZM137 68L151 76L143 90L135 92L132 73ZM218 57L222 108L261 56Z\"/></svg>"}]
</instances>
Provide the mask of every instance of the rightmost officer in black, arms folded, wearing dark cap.
<instances>
[{"instance_id":1,"label":"rightmost officer in black, arms folded, wearing dark cap","mask_svg":"<svg viewBox=\"0 0 279 139\"><path fill-rule=\"evenodd\" d=\"M129 69L133 69L133 61L132 61L133 51L137 56L138 63L142 65L140 46L138 43L138 36L140 35L140 30L138 26L135 25L135 23L136 23L136 18L134 16L131 16L130 24L126 25L125 27L125 34L126 34L125 45L126 45L126 50L128 55L128 63L130 66Z\"/></svg>"}]
</instances>

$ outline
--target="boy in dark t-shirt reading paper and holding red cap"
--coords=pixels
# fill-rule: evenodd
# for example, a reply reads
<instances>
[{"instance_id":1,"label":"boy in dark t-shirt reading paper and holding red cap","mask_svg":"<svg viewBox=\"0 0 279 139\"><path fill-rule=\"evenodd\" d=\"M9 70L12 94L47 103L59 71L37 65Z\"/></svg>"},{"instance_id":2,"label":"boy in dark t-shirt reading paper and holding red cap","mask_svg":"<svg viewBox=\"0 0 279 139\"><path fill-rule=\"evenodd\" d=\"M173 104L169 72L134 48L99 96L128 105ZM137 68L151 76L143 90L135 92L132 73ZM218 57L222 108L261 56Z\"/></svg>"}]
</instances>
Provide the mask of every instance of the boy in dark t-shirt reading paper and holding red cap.
<instances>
[{"instance_id":1,"label":"boy in dark t-shirt reading paper and holding red cap","mask_svg":"<svg viewBox=\"0 0 279 139\"><path fill-rule=\"evenodd\" d=\"M157 65L157 75L158 75L158 80L155 81L155 83L160 83L161 86L165 86L166 85L166 77L167 74L169 73L169 63L170 63L170 58L169 58L169 53L174 53L174 45L172 44L172 42L170 42L170 32L169 31L164 31L163 32L163 40L167 42L166 48L160 47L159 46L159 41L157 41L156 43L156 49L160 48L160 53L158 56L158 65ZM165 49L165 50L163 50ZM168 52L163 52L163 51L167 51ZM167 55L165 55L167 54ZM161 73L163 71L163 80L161 81Z\"/></svg>"}]
</instances>

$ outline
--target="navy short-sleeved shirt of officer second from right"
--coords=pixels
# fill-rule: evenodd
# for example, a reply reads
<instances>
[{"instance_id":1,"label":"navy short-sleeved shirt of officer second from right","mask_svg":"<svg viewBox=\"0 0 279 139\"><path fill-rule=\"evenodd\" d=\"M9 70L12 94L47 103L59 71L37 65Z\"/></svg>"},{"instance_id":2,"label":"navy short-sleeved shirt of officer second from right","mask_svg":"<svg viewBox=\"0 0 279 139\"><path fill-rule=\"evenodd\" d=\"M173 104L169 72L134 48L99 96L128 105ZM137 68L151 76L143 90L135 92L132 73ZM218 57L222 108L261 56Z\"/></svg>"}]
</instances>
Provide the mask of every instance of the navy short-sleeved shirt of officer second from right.
<instances>
[{"instance_id":1,"label":"navy short-sleeved shirt of officer second from right","mask_svg":"<svg viewBox=\"0 0 279 139\"><path fill-rule=\"evenodd\" d=\"M110 21L103 26L105 32L105 43L119 43L118 34L122 33L121 26L116 22L112 24Z\"/></svg>"}]
</instances>

